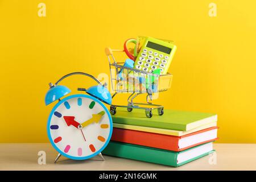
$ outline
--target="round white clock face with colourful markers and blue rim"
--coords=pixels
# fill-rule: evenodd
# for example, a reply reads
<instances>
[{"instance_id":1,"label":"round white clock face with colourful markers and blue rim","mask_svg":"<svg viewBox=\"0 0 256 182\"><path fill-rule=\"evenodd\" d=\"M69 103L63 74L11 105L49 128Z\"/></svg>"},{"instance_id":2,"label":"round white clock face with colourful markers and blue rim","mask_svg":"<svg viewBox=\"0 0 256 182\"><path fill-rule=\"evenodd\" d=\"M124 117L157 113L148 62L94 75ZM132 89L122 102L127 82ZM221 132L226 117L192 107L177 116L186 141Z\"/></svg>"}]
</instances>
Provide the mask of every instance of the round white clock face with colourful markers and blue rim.
<instances>
[{"instance_id":1,"label":"round white clock face with colourful markers and blue rim","mask_svg":"<svg viewBox=\"0 0 256 182\"><path fill-rule=\"evenodd\" d=\"M70 159L98 155L112 135L109 111L96 98L77 94L61 100L48 118L47 133L52 146Z\"/></svg>"}]
</instances>

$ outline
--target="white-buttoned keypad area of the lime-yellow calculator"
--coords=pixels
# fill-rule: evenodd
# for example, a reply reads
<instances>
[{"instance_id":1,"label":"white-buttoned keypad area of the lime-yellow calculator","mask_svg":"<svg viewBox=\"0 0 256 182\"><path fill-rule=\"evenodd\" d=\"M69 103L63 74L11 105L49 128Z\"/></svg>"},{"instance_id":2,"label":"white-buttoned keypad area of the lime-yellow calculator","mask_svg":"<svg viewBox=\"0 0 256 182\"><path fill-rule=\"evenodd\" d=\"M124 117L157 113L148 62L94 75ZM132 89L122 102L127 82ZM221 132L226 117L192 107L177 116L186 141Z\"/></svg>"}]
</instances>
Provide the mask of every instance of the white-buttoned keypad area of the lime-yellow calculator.
<instances>
[{"instance_id":1,"label":"white-buttoned keypad area of the lime-yellow calculator","mask_svg":"<svg viewBox=\"0 0 256 182\"><path fill-rule=\"evenodd\" d=\"M135 63L135 68L150 73L160 68L162 73L166 68L168 59L169 56L167 55L143 48L139 59Z\"/></svg>"}]
</instances>

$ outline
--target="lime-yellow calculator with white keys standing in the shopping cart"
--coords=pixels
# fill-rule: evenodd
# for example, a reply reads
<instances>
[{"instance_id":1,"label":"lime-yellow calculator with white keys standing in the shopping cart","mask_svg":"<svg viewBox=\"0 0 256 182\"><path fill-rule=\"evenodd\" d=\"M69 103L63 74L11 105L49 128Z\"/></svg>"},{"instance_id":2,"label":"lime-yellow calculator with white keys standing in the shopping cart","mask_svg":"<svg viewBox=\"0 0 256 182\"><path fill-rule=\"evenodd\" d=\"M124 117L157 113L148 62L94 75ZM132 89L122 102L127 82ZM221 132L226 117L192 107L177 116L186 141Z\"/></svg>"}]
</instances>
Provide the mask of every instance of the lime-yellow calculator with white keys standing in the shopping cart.
<instances>
[{"instance_id":1,"label":"lime-yellow calculator with white keys standing in the shopping cart","mask_svg":"<svg viewBox=\"0 0 256 182\"><path fill-rule=\"evenodd\" d=\"M175 52L174 44L148 37L138 53L134 68L150 73L160 68L160 75L164 75L168 72Z\"/></svg>"}]
</instances>

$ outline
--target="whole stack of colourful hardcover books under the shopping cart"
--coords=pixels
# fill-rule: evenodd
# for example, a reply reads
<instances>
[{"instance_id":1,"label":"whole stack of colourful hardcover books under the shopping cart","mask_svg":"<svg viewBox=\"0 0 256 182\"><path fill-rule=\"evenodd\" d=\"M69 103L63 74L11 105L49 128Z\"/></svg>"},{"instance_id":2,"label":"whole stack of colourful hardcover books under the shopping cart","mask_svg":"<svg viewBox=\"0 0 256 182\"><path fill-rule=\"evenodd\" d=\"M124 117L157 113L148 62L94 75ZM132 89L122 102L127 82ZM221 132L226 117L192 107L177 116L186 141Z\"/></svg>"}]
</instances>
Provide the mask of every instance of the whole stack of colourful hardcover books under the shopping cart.
<instances>
[{"instance_id":1,"label":"whole stack of colourful hardcover books under the shopping cart","mask_svg":"<svg viewBox=\"0 0 256 182\"><path fill-rule=\"evenodd\" d=\"M164 110L145 116L144 110L118 108L105 155L178 167L212 153L217 139L217 115Z\"/></svg>"}]
</instances>

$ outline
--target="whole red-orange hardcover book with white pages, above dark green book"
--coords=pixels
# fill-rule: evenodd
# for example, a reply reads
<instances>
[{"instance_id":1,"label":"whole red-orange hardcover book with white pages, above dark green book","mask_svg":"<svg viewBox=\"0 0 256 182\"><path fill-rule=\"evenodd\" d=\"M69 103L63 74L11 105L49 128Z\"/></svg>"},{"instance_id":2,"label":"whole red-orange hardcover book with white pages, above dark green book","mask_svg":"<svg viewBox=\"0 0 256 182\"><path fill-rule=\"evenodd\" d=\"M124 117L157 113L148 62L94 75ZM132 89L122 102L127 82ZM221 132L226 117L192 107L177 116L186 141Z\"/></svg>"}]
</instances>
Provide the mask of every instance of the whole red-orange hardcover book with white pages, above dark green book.
<instances>
[{"instance_id":1,"label":"whole red-orange hardcover book with white pages, above dark green book","mask_svg":"<svg viewBox=\"0 0 256 182\"><path fill-rule=\"evenodd\" d=\"M212 142L217 139L217 126L196 131L181 137L148 133L137 130L113 128L112 141L137 144L141 146L161 148L171 151L183 151L203 143Z\"/></svg>"}]
</instances>

